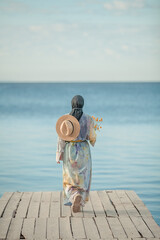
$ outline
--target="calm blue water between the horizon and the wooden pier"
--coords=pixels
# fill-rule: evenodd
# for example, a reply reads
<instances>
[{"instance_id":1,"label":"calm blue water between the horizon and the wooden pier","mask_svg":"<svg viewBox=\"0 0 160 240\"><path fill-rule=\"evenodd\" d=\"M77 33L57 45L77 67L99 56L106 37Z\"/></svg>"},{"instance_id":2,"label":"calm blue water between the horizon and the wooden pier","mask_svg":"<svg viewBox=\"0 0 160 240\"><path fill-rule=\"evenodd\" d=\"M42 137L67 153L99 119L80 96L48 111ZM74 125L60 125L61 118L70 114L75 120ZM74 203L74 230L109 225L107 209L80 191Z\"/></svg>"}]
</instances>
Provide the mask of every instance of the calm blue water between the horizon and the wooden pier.
<instances>
[{"instance_id":1,"label":"calm blue water between the horizon and the wooden pier","mask_svg":"<svg viewBox=\"0 0 160 240\"><path fill-rule=\"evenodd\" d=\"M55 124L76 94L104 119L91 190L134 190L160 224L160 83L0 84L0 196L62 189Z\"/></svg>"}]
</instances>

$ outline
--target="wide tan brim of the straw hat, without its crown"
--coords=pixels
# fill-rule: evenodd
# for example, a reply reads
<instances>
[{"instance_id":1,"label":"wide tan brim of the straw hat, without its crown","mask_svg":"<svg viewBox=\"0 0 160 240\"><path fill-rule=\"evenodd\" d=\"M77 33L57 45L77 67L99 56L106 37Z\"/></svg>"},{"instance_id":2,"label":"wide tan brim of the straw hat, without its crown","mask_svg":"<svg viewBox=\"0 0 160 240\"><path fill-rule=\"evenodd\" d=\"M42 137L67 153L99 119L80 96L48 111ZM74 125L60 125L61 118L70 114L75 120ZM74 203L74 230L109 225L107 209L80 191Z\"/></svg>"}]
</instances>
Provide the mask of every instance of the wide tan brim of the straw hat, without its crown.
<instances>
[{"instance_id":1,"label":"wide tan brim of the straw hat, without its crown","mask_svg":"<svg viewBox=\"0 0 160 240\"><path fill-rule=\"evenodd\" d=\"M60 131L60 126L62 124L63 121L65 120L69 120L72 122L73 124L73 127L74 127L74 130L72 132L71 135L69 136L65 136L64 134L61 133ZM58 136L62 139L62 140L65 140L65 141L72 141L74 139L76 139L80 133L80 124L79 124L79 121L73 117L72 115L69 115L69 114L66 114L66 115L63 115L62 117L60 117L58 120L57 120L57 123L56 123L56 131L57 131L57 134Z\"/></svg>"}]
</instances>

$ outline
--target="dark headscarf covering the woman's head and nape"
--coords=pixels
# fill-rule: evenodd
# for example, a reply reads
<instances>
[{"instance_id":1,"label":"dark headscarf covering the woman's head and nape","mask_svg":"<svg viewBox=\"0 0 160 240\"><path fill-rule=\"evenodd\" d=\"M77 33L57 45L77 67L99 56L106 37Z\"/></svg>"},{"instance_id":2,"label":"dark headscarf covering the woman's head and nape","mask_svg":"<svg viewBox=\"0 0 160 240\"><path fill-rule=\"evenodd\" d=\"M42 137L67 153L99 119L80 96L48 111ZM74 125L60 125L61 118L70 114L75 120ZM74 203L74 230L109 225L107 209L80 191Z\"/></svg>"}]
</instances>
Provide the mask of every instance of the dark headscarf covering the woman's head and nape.
<instances>
[{"instance_id":1,"label":"dark headscarf covering the woman's head and nape","mask_svg":"<svg viewBox=\"0 0 160 240\"><path fill-rule=\"evenodd\" d=\"M74 96L72 98L71 105L72 105L72 111L70 112L70 115L74 116L79 121L83 114L83 109L82 109L84 105L83 97L80 95Z\"/></svg>"}]
</instances>

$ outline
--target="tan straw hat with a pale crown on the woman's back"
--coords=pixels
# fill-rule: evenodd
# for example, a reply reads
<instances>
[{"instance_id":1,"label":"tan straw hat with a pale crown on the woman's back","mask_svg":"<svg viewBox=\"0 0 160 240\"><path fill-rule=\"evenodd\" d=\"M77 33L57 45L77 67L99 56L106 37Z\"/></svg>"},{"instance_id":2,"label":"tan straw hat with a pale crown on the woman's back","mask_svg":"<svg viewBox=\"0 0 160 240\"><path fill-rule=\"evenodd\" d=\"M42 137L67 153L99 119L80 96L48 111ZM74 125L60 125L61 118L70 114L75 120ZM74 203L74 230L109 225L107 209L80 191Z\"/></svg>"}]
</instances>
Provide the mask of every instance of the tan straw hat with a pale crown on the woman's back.
<instances>
[{"instance_id":1,"label":"tan straw hat with a pale crown on the woman's back","mask_svg":"<svg viewBox=\"0 0 160 240\"><path fill-rule=\"evenodd\" d=\"M79 135L80 124L75 117L66 114L57 120L56 131L61 139L65 141L72 141Z\"/></svg>"}]
</instances>

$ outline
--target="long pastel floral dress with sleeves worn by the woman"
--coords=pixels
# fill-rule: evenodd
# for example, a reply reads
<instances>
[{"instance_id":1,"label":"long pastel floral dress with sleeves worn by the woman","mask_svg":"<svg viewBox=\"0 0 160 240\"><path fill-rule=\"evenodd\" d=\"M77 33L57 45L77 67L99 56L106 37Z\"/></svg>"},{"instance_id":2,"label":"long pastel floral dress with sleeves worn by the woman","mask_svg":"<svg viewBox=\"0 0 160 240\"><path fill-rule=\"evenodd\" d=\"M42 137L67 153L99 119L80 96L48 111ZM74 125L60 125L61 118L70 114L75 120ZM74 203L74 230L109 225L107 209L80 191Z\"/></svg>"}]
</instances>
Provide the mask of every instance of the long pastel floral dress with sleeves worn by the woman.
<instances>
[{"instance_id":1,"label":"long pastel floral dress with sleeves worn by the woman","mask_svg":"<svg viewBox=\"0 0 160 240\"><path fill-rule=\"evenodd\" d=\"M74 141L65 142L58 138L57 157L63 155L63 198L65 205L72 205L74 195L79 193L82 196L81 205L88 201L88 195L92 177L92 159L89 142L94 146L96 132L94 121L88 114L83 113L79 120L80 133Z\"/></svg>"}]
</instances>

